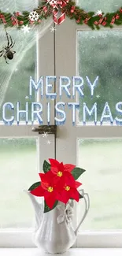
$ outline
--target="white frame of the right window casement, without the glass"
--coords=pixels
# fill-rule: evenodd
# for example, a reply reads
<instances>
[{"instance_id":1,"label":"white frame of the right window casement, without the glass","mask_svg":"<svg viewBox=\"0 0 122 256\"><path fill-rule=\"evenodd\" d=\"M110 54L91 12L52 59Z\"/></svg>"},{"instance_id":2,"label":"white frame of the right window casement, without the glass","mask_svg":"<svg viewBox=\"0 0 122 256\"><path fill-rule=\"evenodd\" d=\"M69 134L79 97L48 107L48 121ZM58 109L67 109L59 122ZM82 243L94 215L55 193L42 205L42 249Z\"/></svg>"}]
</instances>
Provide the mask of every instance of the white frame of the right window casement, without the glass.
<instances>
[{"instance_id":1,"label":"white frame of the right window casement, without the glass","mask_svg":"<svg viewBox=\"0 0 122 256\"><path fill-rule=\"evenodd\" d=\"M65 22L56 31L56 76L78 75L78 61L76 60L76 33L78 31L91 31L87 25L78 25L74 20L66 18ZM101 28L110 30L110 28ZM115 27L114 30L122 30ZM57 92L58 94L58 92ZM60 98L57 98L57 102ZM65 95L61 98L63 102L72 102ZM74 100L76 102L76 99ZM122 127L111 125L76 125L72 127L72 117L69 109L65 108L67 120L65 125L57 128L57 159L64 162L78 163L76 152L78 139L122 139ZM71 139L72 138L72 139ZM76 214L75 214L76 216ZM76 247L122 247L122 232L79 232Z\"/></svg>"}]
</instances>

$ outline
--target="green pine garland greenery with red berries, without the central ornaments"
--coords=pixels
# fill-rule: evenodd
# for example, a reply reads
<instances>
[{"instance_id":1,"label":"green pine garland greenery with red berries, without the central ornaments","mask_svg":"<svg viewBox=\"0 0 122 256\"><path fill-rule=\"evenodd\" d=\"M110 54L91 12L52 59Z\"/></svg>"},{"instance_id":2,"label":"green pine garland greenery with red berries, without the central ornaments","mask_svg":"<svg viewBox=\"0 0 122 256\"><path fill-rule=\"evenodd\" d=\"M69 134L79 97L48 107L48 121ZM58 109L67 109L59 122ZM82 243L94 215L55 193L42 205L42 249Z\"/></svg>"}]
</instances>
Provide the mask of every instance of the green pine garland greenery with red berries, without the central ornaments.
<instances>
[{"instance_id":1,"label":"green pine garland greenery with red berries, without the central ornaments","mask_svg":"<svg viewBox=\"0 0 122 256\"><path fill-rule=\"evenodd\" d=\"M29 12L23 13L3 13L0 10L0 24L4 24L6 27L17 26L21 28L23 25L31 26L31 24L38 25L44 19L53 16L54 7L50 5L50 2L42 2L38 9L34 9L39 14L39 19L31 21L29 19ZM117 9L114 13L102 13L97 15L94 12L85 12L83 9L76 6L76 3L69 0L69 2L61 8L61 12L65 12L65 16L71 20L76 20L77 24L87 24L91 29L100 29L102 27L113 28L113 25L122 25L122 7Z\"/></svg>"}]
</instances>

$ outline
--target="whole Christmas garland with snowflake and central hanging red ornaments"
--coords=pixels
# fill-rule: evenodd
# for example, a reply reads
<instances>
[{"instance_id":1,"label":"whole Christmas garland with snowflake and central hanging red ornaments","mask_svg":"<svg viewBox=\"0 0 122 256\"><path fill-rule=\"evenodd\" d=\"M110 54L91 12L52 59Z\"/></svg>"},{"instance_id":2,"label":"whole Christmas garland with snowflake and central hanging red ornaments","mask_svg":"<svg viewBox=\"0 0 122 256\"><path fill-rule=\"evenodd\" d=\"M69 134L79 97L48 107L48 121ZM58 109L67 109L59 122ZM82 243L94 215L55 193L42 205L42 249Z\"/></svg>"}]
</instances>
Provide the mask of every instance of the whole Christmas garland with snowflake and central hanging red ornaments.
<instances>
[{"instance_id":1,"label":"whole Christmas garland with snowflake and central hanging red ornaments","mask_svg":"<svg viewBox=\"0 0 122 256\"><path fill-rule=\"evenodd\" d=\"M102 13L102 11L86 12L76 6L75 2L71 0L47 0L31 11L31 13L24 11L23 13L3 13L0 10L0 24L6 27L30 26L31 24L38 25L44 19L53 16L55 24L61 24L65 17L71 20L76 20L77 24L87 24L92 29L100 29L100 26L113 28L113 24L122 25L122 7L117 9L115 13Z\"/></svg>"}]
</instances>

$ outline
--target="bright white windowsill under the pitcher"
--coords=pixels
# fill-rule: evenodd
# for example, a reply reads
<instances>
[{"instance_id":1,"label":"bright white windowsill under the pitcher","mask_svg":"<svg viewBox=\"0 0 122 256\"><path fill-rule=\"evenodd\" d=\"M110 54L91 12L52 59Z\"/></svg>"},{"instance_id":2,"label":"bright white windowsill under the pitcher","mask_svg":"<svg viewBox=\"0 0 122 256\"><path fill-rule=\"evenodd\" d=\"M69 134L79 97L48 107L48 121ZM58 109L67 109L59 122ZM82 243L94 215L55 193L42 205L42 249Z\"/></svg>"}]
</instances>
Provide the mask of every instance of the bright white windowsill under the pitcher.
<instances>
[{"instance_id":1,"label":"bright white windowsill under the pitcher","mask_svg":"<svg viewBox=\"0 0 122 256\"><path fill-rule=\"evenodd\" d=\"M0 248L2 256L47 256L42 250L37 248ZM50 254L49 254L50 255ZM51 254L53 255L53 254ZM54 256L121 256L122 248L72 248L65 254L54 254Z\"/></svg>"}]
</instances>

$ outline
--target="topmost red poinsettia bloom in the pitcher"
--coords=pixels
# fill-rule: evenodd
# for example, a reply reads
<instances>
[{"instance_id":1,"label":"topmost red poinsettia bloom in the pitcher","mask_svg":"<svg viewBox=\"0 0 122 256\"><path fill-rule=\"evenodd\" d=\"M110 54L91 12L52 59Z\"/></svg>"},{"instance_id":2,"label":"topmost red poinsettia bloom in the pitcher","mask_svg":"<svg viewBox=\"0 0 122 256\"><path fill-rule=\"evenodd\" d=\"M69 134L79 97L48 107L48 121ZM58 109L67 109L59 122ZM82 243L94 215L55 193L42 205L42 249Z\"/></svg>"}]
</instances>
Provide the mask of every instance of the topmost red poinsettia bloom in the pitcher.
<instances>
[{"instance_id":1,"label":"topmost red poinsettia bloom in the pitcher","mask_svg":"<svg viewBox=\"0 0 122 256\"><path fill-rule=\"evenodd\" d=\"M76 167L76 165L66 164L64 165L63 162L59 162L55 159L49 159L50 161L50 171L57 176L57 180L61 178L65 172L71 173L72 170Z\"/></svg>"}]
</instances>

